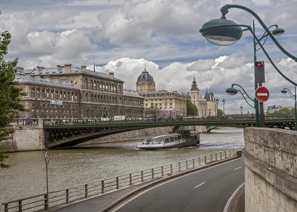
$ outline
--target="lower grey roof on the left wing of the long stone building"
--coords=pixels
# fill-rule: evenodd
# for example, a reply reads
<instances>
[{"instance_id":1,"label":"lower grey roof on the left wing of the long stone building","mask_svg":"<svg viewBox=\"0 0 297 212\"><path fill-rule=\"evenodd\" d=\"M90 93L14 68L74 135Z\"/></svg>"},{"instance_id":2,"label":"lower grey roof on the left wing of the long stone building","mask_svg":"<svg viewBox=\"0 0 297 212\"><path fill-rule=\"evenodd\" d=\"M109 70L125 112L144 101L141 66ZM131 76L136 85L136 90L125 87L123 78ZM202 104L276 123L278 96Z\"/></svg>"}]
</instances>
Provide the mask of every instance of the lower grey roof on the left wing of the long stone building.
<instances>
[{"instance_id":1,"label":"lower grey roof on the left wing of the long stone building","mask_svg":"<svg viewBox=\"0 0 297 212\"><path fill-rule=\"evenodd\" d=\"M15 80L19 83L32 83L36 85L53 86L53 87L59 87L59 88L79 90L79 88L75 87L73 84L68 82L66 82L65 84L62 82L55 82L53 80L49 80L49 82L47 82L43 78L40 78L40 80L38 80L38 79L35 79L34 77L27 78L24 75L15 77Z\"/></svg>"}]
</instances>

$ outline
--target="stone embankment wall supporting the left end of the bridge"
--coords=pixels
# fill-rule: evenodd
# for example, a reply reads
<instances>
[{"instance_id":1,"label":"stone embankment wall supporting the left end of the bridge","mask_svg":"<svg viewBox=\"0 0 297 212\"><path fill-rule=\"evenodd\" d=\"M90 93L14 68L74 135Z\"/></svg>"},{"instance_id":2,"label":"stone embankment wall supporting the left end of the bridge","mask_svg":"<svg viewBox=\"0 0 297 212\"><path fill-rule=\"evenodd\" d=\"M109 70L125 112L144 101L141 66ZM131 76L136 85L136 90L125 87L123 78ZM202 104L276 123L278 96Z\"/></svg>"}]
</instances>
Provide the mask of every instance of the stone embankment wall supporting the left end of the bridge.
<instances>
[{"instance_id":1,"label":"stone embankment wall supporting the left end of the bridge","mask_svg":"<svg viewBox=\"0 0 297 212\"><path fill-rule=\"evenodd\" d=\"M1 145L6 146L4 152L19 152L45 150L44 145L44 130L38 126L16 125L13 128L15 131L12 134L12 139L1 142Z\"/></svg>"}]
</instances>

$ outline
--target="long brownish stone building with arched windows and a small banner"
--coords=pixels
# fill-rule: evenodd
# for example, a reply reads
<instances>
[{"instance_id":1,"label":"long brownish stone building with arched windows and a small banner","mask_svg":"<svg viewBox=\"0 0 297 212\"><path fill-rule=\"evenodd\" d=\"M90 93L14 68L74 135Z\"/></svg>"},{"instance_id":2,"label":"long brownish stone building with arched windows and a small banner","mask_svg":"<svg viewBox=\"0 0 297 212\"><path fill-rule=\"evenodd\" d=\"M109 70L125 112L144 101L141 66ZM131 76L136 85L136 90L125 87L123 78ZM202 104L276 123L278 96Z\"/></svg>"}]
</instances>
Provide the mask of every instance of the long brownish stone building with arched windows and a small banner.
<instances>
[{"instance_id":1,"label":"long brownish stone building with arched windows and a small banner","mask_svg":"<svg viewBox=\"0 0 297 212\"><path fill-rule=\"evenodd\" d=\"M15 79L28 94L22 103L31 109L20 114L20 118L75 120L113 118L120 114L127 118L143 116L143 97L124 93L124 81L114 77L113 72L104 74L86 67L71 64L25 70L17 67Z\"/></svg>"}]
</instances>

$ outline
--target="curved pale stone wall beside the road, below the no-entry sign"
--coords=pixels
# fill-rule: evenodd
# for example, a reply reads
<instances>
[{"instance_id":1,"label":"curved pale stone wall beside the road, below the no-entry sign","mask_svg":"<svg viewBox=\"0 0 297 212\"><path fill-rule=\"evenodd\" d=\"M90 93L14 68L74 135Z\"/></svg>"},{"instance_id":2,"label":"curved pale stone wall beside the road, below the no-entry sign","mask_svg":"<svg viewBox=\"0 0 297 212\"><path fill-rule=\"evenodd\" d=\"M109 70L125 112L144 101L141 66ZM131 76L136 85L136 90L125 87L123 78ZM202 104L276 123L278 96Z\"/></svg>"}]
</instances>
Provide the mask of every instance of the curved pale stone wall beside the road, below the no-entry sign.
<instances>
[{"instance_id":1,"label":"curved pale stone wall beside the road, below the no-entry sign","mask_svg":"<svg viewBox=\"0 0 297 212\"><path fill-rule=\"evenodd\" d=\"M245 212L297 211L297 132L245 128Z\"/></svg>"}]
</instances>

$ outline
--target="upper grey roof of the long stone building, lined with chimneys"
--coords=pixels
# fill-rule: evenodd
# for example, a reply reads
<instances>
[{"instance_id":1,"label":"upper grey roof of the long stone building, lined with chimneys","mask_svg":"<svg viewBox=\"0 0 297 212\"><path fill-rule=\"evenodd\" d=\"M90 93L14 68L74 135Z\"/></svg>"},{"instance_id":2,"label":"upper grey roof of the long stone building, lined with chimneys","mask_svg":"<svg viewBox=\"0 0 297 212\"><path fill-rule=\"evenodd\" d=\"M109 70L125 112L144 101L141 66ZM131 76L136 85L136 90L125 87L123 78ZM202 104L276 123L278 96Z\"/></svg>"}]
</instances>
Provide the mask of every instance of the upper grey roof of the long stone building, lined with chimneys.
<instances>
[{"instance_id":1,"label":"upper grey roof of the long stone building, lined with chimneys","mask_svg":"<svg viewBox=\"0 0 297 212\"><path fill-rule=\"evenodd\" d=\"M20 71L20 70L19 70ZM65 67L61 66L59 71L58 68L41 68L41 69L24 69L23 73L27 74L30 73L31 75L40 75L40 76L45 76L45 75L60 75L60 74L89 74L89 75L93 75L96 77L100 77L103 79L108 79L108 80L113 80L113 81L118 81L118 82L124 82L116 77L111 77L109 74L104 74L101 72L95 72L92 70L88 70L86 69L86 71L84 71L82 68L79 67L71 67L71 72L70 73L65 73Z\"/></svg>"}]
</instances>

